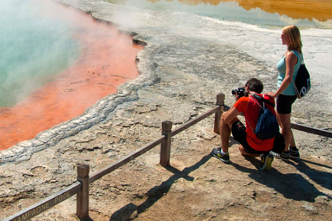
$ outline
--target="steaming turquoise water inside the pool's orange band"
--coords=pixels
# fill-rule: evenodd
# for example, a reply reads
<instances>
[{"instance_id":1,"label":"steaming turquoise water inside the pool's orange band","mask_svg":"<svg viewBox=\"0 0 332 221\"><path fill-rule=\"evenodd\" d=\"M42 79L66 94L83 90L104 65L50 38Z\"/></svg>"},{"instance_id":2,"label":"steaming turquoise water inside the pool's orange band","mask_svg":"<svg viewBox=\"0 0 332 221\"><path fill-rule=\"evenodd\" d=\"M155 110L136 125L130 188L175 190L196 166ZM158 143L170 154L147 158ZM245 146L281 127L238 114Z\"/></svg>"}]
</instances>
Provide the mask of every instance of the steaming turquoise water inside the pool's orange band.
<instances>
[{"instance_id":1,"label":"steaming turquoise water inside the pool's orange band","mask_svg":"<svg viewBox=\"0 0 332 221\"><path fill-rule=\"evenodd\" d=\"M78 58L69 24L40 16L31 0L0 6L0 107L13 106Z\"/></svg>"}]
</instances>

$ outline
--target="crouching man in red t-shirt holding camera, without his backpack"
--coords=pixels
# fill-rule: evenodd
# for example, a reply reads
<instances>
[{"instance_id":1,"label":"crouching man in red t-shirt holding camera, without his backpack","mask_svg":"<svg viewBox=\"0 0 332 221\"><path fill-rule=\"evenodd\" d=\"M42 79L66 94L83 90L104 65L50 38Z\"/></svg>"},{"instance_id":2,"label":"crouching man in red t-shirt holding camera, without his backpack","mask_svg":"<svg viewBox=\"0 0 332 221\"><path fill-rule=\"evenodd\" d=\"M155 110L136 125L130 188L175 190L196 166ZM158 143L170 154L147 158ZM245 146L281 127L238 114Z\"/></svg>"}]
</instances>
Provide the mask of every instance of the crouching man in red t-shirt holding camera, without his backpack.
<instances>
[{"instance_id":1,"label":"crouching man in red t-shirt holding camera, without his backpack","mask_svg":"<svg viewBox=\"0 0 332 221\"><path fill-rule=\"evenodd\" d=\"M232 132L234 140L240 143L239 150L243 155L251 157L260 156L261 162L258 169L271 169L273 155L269 151L272 150L273 152L281 152L285 147L285 140L280 133L278 133L275 138L268 140L259 140L253 133L253 130L256 128L260 106L258 105L259 102L249 95L257 94L258 96L263 97L274 104L273 98L260 94L262 90L262 82L256 78L251 78L245 85L245 93L243 97L238 96L238 93L236 92L236 102L234 106L229 111L224 112L221 116L221 147L214 148L212 150L213 156L223 162L230 161L228 145ZM276 115L272 106L265 105L265 107L267 107L274 114L274 116ZM245 116L246 127L237 118L241 112Z\"/></svg>"}]
</instances>

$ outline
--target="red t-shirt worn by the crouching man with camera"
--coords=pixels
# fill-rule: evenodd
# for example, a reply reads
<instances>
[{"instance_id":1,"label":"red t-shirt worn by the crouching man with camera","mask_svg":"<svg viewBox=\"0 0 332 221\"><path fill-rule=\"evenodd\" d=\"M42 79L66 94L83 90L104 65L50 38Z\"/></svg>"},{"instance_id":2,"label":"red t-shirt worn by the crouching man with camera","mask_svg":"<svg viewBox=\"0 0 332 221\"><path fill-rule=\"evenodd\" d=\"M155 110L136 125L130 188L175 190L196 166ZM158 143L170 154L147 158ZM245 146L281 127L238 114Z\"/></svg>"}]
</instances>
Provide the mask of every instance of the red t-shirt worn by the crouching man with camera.
<instances>
[{"instance_id":1,"label":"red t-shirt worn by the crouching man with camera","mask_svg":"<svg viewBox=\"0 0 332 221\"><path fill-rule=\"evenodd\" d=\"M267 95L258 94L261 97L264 97L266 100L274 103L274 98L271 98ZM258 112L260 107L258 104L253 100L254 98L250 97L241 97L235 104L234 107L241 113L245 115L246 119L246 127L247 127L247 142L250 147L256 150L261 151L268 151L271 150L273 147L274 138L268 139L268 140L260 140L256 137L256 135L253 133L252 129L255 130L256 123L258 119ZM268 104L265 104L265 107L267 107L274 116L275 111L274 108ZM252 129L251 129L251 127Z\"/></svg>"}]
</instances>

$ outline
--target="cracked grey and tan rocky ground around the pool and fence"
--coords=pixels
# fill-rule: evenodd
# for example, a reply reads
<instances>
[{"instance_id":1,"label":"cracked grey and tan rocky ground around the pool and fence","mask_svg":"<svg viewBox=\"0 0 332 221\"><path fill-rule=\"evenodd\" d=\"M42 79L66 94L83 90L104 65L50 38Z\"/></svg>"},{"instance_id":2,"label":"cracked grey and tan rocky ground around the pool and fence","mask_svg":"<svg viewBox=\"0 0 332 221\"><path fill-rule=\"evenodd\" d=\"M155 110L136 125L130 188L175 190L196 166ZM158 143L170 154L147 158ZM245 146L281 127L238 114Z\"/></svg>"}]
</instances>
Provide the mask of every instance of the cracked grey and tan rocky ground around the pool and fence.
<instances>
[{"instance_id":1,"label":"cracked grey and tan rocky ground around the pool and fence","mask_svg":"<svg viewBox=\"0 0 332 221\"><path fill-rule=\"evenodd\" d=\"M264 82L264 91L275 89L275 64L268 60L277 58L282 46L252 49L257 38L276 42L273 31L216 25L175 12L158 11L152 16L144 10L127 11L127 20L120 24L116 15L124 13L122 6L63 1L136 33L135 41L146 44L137 56L141 75L82 116L1 151L0 219L74 183L78 164L89 164L93 173L159 138L163 121L172 121L175 129L211 109L220 92L232 105L231 90L252 76ZM142 23L128 26L135 16ZM180 17L183 23L175 26ZM185 34L184 24L195 32ZM239 50L240 43L217 40L217 34L238 36L240 43L246 42L244 50ZM331 56L331 38L304 38L324 44L307 48L311 59L307 66L321 62L320 56ZM273 53L266 59L259 50ZM331 77L320 74L324 68L314 70L313 91L294 105L293 122L331 129L331 97L319 95L331 85ZM327 80L321 82L324 77ZM159 165L160 147L156 147L92 183L91 220L331 220L330 138L294 131L301 159L275 159L270 171L258 171L258 158L244 158L232 138L231 163L210 155L213 147L220 146L213 122L211 116L172 138L170 167ZM75 205L72 197L32 220L78 220Z\"/></svg>"}]
</instances>

